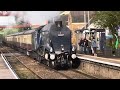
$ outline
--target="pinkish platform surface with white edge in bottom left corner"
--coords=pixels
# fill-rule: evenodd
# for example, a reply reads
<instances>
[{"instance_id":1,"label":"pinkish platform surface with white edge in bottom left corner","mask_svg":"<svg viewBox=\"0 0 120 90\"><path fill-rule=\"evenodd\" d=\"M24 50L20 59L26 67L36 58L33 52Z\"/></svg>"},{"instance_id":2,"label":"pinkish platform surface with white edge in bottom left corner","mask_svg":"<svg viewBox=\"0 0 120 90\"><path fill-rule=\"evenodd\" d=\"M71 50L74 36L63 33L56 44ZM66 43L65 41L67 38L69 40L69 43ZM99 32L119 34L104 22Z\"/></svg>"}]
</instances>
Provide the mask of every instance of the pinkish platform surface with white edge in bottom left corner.
<instances>
[{"instance_id":1,"label":"pinkish platform surface with white edge in bottom left corner","mask_svg":"<svg viewBox=\"0 0 120 90\"><path fill-rule=\"evenodd\" d=\"M17 79L5 60L0 55L0 79Z\"/></svg>"}]
</instances>

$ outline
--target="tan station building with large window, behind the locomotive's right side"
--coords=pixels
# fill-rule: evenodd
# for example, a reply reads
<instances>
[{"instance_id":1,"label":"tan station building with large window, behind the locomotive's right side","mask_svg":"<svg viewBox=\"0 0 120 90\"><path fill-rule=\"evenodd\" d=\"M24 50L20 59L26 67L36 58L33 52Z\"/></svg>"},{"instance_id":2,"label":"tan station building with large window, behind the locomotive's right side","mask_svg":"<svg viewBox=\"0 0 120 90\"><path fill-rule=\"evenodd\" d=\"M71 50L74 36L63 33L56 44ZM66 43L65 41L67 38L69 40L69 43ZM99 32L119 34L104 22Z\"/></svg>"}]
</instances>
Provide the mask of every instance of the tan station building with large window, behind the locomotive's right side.
<instances>
[{"instance_id":1,"label":"tan station building with large window, behind the locomotive's right side","mask_svg":"<svg viewBox=\"0 0 120 90\"><path fill-rule=\"evenodd\" d=\"M72 44L77 45L77 37L75 31L86 27L94 11L63 11L60 18L63 24L67 25L72 31Z\"/></svg>"}]
</instances>

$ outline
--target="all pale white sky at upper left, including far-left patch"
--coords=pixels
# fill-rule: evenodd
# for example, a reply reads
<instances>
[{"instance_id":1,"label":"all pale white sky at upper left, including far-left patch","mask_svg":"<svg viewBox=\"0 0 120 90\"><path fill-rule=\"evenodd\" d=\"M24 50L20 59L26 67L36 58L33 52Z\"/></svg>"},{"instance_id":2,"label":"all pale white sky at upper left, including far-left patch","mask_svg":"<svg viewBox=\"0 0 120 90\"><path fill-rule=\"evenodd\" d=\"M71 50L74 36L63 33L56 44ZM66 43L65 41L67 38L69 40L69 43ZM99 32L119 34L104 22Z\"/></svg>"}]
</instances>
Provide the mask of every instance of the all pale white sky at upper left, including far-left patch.
<instances>
[{"instance_id":1,"label":"all pale white sky at upper left, including far-left patch","mask_svg":"<svg viewBox=\"0 0 120 90\"><path fill-rule=\"evenodd\" d=\"M19 19L23 18L29 21L31 24L42 25L46 24L46 22L59 15L59 11L11 11L11 16L1 16L0 17L0 25L8 25L10 22L14 22L13 16L18 14Z\"/></svg>"}]
</instances>

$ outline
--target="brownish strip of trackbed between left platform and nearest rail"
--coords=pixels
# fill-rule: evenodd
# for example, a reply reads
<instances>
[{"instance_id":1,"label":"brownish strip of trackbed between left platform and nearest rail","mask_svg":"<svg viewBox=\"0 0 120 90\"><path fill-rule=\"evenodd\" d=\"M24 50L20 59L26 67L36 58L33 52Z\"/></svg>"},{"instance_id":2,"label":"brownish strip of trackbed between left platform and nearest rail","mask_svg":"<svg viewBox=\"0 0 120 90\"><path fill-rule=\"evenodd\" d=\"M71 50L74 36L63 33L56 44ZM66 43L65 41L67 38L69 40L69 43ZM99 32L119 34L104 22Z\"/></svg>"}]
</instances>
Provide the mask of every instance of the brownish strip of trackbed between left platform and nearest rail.
<instances>
[{"instance_id":1,"label":"brownish strip of trackbed between left platform and nearest rail","mask_svg":"<svg viewBox=\"0 0 120 90\"><path fill-rule=\"evenodd\" d=\"M4 48L4 47L3 47ZM29 68L27 68L20 60L12 54L10 51L4 49L6 53L9 53L9 55L5 55L1 51L2 56L8 63L8 65L11 67L11 69L14 71L15 74L17 74L18 78L21 79L41 79L38 75L36 75L33 71L31 71Z\"/></svg>"}]
</instances>

